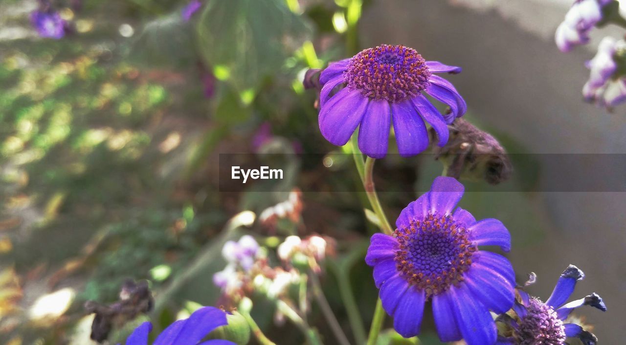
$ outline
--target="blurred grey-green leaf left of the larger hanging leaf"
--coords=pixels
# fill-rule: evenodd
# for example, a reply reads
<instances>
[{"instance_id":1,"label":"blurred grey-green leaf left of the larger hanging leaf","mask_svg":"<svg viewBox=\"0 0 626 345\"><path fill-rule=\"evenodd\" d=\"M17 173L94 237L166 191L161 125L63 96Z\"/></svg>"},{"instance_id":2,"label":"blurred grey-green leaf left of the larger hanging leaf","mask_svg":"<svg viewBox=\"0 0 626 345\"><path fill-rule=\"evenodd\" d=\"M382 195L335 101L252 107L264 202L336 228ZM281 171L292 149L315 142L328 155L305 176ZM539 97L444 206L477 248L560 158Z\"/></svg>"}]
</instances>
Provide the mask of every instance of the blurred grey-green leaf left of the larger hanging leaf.
<instances>
[{"instance_id":1,"label":"blurred grey-green leaf left of the larger hanging leaf","mask_svg":"<svg viewBox=\"0 0 626 345\"><path fill-rule=\"evenodd\" d=\"M188 68L198 59L192 26L179 11L147 23L133 42L130 59L140 66Z\"/></svg>"}]
</instances>

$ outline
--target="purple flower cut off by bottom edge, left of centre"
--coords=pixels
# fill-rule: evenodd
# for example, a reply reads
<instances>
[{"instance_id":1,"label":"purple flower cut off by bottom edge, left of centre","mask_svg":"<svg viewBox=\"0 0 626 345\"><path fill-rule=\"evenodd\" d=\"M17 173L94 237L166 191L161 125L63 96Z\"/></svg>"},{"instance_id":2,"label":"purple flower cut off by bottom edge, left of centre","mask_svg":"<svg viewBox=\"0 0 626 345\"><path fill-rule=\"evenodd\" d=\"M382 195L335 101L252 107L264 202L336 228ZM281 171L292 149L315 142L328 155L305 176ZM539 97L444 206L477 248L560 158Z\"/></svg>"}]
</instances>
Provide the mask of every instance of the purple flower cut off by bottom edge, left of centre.
<instances>
[{"instance_id":1,"label":"purple flower cut off by bottom edge, left of centre","mask_svg":"<svg viewBox=\"0 0 626 345\"><path fill-rule=\"evenodd\" d=\"M167 327L153 342L153 345L196 345L213 329L228 324L226 312L215 307L202 307L184 320ZM148 333L152 331L150 322L143 322L126 338L126 345L148 345ZM215 339L202 342L203 345L235 345L232 341Z\"/></svg>"}]
</instances>

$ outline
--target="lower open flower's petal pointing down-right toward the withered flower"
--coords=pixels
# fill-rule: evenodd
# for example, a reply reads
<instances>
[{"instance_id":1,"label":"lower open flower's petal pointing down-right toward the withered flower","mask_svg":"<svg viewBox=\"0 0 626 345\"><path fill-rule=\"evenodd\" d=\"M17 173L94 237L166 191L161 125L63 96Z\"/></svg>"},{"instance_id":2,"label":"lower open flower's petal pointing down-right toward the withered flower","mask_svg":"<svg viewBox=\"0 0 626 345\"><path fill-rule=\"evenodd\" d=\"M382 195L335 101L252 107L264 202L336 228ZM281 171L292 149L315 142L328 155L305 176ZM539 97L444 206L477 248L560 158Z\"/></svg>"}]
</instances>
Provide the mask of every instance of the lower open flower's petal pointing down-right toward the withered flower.
<instances>
[{"instance_id":1,"label":"lower open flower's petal pointing down-right toward the withered flower","mask_svg":"<svg viewBox=\"0 0 626 345\"><path fill-rule=\"evenodd\" d=\"M507 312L515 302L515 285L500 274L472 266L464 275L464 284L486 307L497 314Z\"/></svg>"}]
</instances>

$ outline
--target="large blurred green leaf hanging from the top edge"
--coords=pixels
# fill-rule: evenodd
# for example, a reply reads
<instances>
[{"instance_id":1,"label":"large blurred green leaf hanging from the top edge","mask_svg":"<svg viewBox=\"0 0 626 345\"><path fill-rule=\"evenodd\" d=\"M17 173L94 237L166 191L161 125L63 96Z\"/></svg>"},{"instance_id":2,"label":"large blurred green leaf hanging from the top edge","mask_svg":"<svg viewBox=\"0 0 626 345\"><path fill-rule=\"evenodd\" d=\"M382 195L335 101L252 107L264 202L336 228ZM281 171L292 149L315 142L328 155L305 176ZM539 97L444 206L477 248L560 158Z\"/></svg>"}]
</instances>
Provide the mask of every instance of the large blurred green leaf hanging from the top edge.
<instances>
[{"instance_id":1,"label":"large blurred green leaf hanging from the top edge","mask_svg":"<svg viewBox=\"0 0 626 345\"><path fill-rule=\"evenodd\" d=\"M205 63L228 71L228 83L241 93L277 73L310 29L284 0L209 0L197 33Z\"/></svg>"}]
</instances>

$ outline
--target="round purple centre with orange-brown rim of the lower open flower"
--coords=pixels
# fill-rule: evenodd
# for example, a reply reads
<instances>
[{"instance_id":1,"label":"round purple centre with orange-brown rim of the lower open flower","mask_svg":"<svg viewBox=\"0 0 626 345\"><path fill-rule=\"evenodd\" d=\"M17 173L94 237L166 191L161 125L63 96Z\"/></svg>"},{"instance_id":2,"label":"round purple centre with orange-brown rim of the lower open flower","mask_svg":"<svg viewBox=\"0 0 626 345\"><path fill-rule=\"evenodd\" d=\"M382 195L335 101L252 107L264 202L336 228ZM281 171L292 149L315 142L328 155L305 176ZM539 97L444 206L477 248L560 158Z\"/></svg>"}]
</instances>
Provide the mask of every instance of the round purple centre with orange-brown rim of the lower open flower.
<instances>
[{"instance_id":1,"label":"round purple centre with orange-brown rim of the lower open flower","mask_svg":"<svg viewBox=\"0 0 626 345\"><path fill-rule=\"evenodd\" d=\"M451 216L429 214L394 232L400 244L396 266L409 284L426 291L427 299L463 281L478 247L468 230Z\"/></svg>"}]
</instances>

